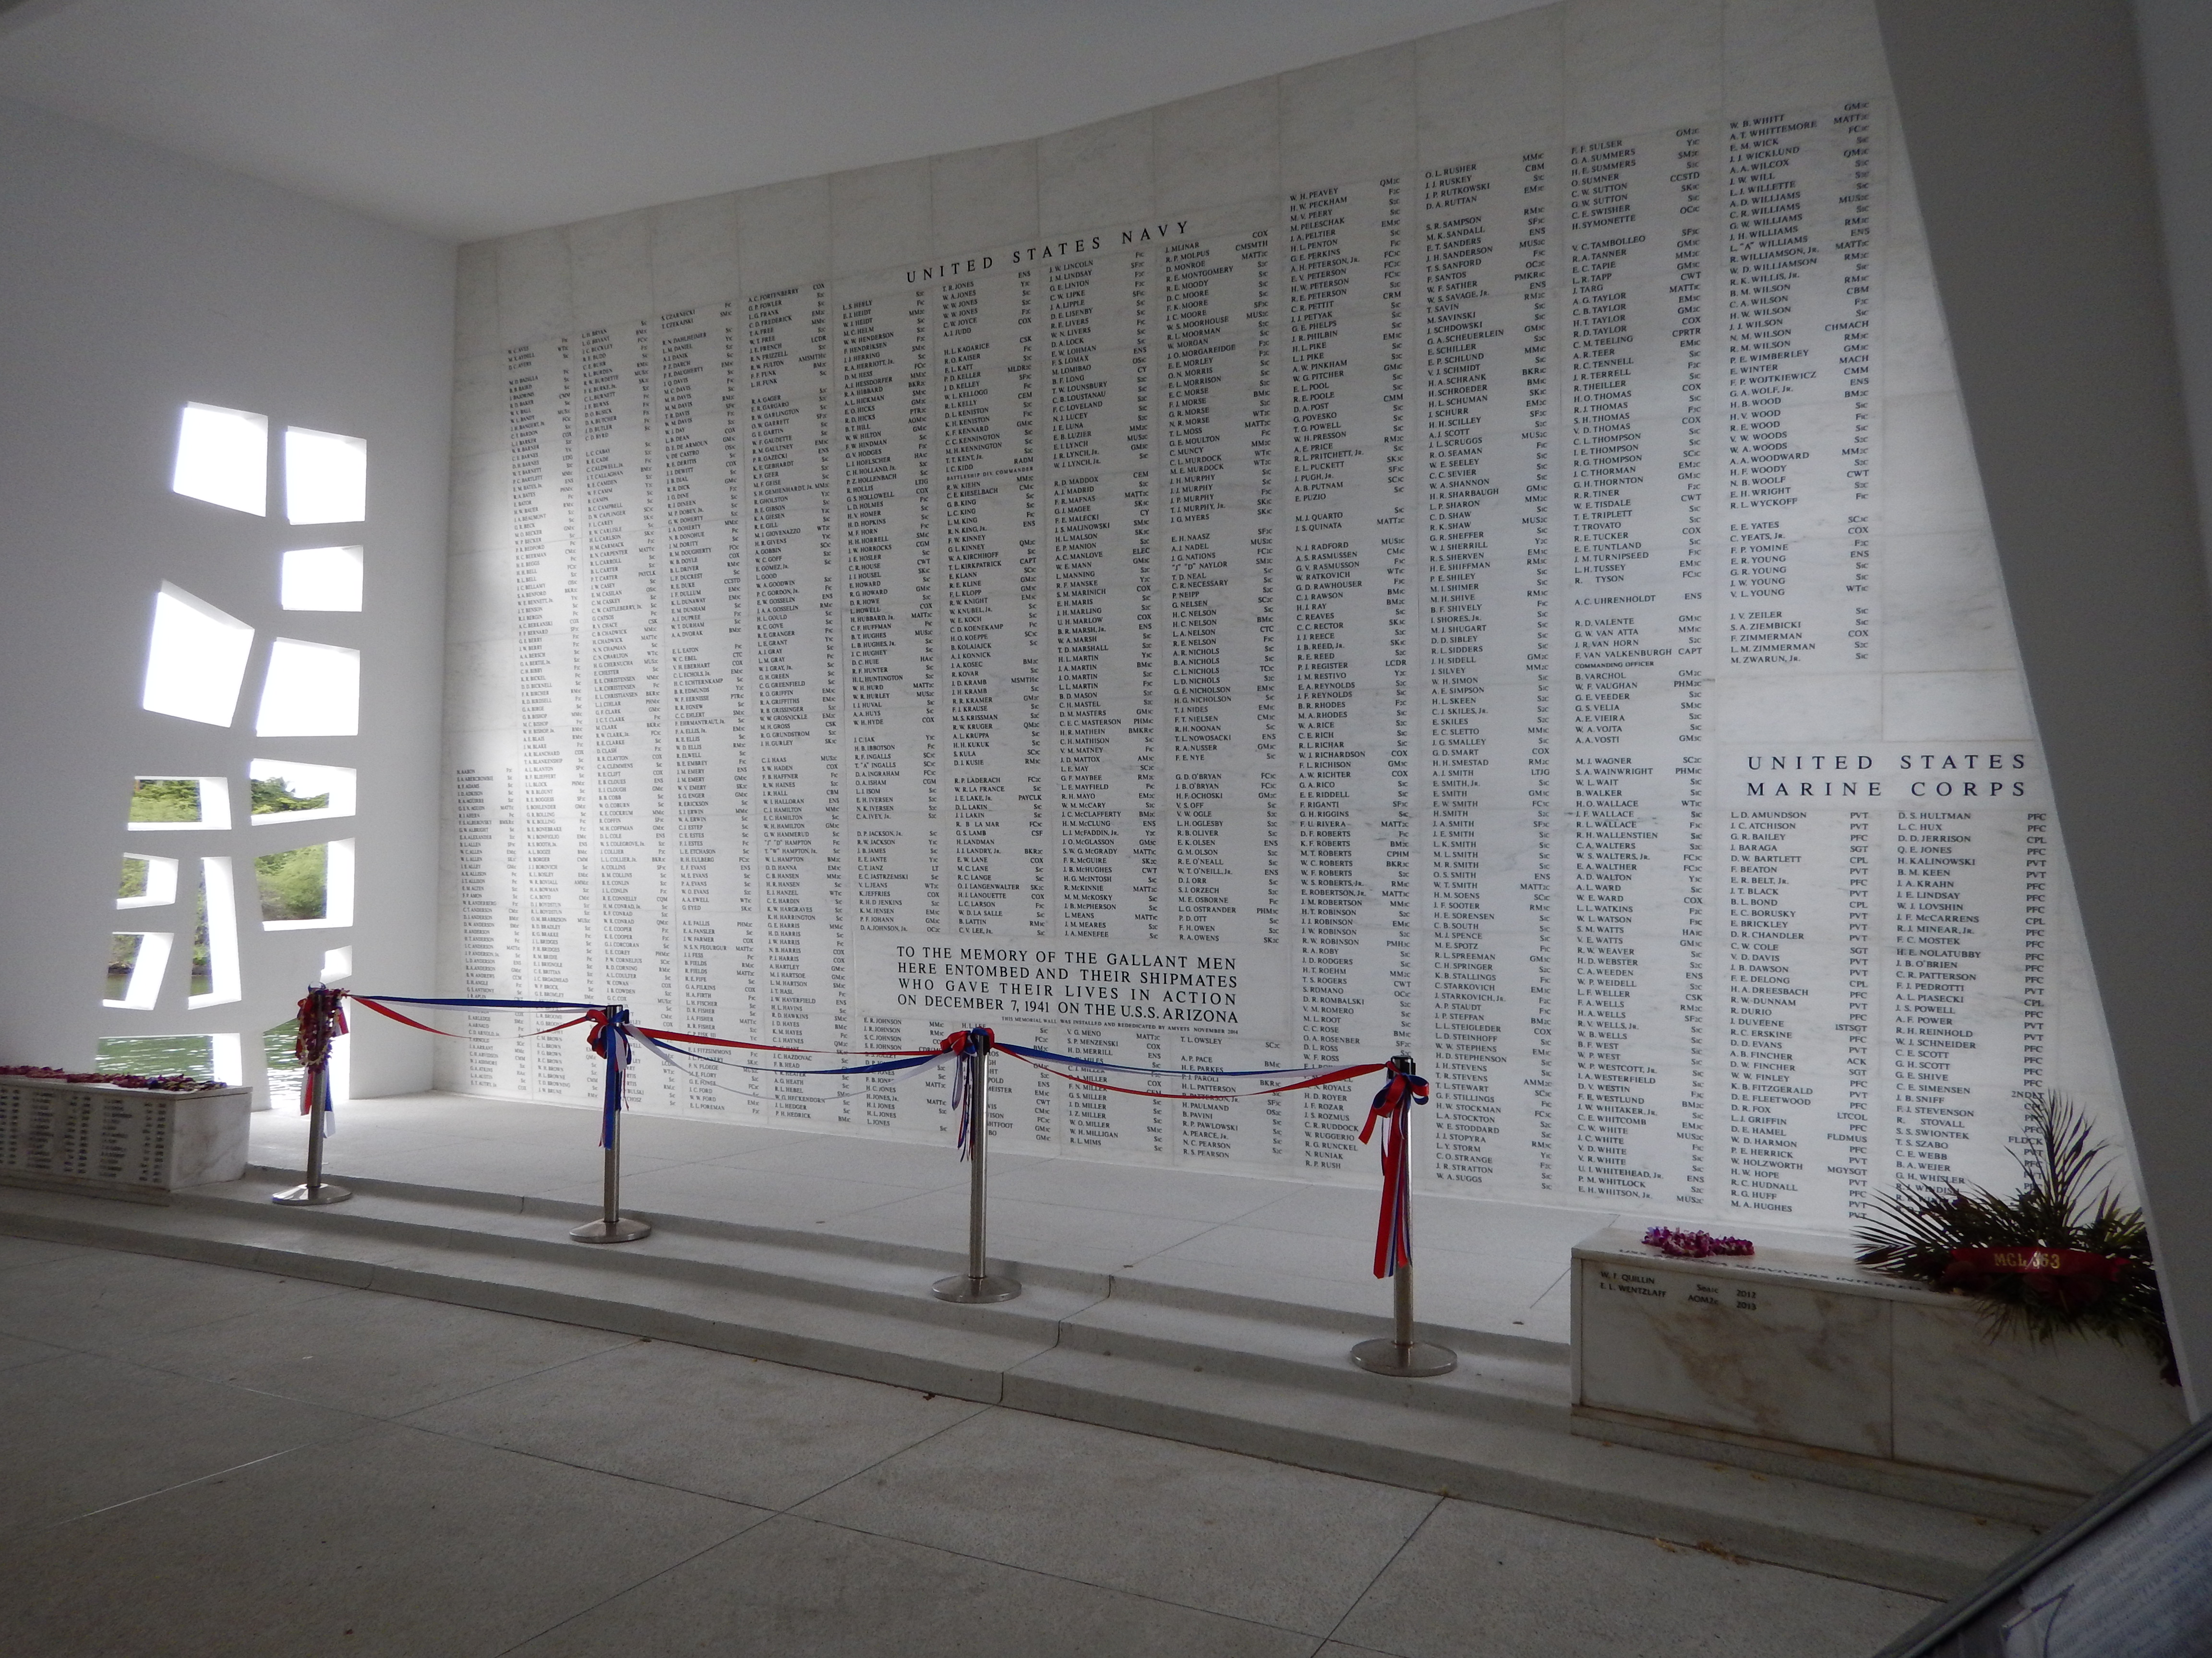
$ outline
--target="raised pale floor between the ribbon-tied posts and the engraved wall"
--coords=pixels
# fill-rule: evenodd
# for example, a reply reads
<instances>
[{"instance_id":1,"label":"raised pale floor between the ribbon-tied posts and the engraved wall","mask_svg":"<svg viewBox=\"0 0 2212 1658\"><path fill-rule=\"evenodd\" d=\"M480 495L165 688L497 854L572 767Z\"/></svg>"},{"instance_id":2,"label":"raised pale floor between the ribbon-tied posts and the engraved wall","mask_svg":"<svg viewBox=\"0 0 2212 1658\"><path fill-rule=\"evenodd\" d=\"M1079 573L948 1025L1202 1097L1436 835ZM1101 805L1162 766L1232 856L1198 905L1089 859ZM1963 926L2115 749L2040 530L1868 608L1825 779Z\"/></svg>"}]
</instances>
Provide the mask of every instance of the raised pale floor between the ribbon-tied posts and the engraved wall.
<instances>
[{"instance_id":1,"label":"raised pale floor between the ribbon-tied posts and the engraved wall","mask_svg":"<svg viewBox=\"0 0 2212 1658\"><path fill-rule=\"evenodd\" d=\"M332 1178L599 1200L597 1114L462 1094L369 1099L338 1112ZM305 1125L252 1119L252 1161L299 1167ZM967 1167L949 1147L630 1114L624 1203L641 1211L821 1227L967 1247ZM1416 1196L1420 1318L1546 1342L1568 1337L1568 1249L1608 1211ZM1301 1307L1389 1311L1374 1278L1376 1189L1079 1156L991 1143L991 1251Z\"/></svg>"}]
</instances>

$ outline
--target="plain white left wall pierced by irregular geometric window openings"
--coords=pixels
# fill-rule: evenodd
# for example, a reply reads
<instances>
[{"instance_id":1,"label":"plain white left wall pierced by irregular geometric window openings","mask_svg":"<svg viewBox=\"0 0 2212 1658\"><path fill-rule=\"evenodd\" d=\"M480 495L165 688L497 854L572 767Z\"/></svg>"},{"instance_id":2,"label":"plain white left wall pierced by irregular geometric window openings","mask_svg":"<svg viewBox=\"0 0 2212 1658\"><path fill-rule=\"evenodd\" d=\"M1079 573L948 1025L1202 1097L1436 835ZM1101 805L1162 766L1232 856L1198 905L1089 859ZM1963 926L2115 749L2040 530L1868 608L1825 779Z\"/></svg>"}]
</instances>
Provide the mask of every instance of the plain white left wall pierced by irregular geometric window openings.
<instances>
[{"instance_id":1,"label":"plain white left wall pierced by irregular geometric window openings","mask_svg":"<svg viewBox=\"0 0 2212 1658\"><path fill-rule=\"evenodd\" d=\"M323 951L358 986L429 982L445 610L451 248L268 183L0 102L0 1061L80 1068L104 1035L252 1032ZM367 533L292 531L168 489L186 400L369 440ZM363 615L283 612L276 555L367 544ZM232 730L139 710L168 579L254 626ZM358 738L254 743L276 634L363 650ZM250 829L243 760L358 767L354 820ZM230 774L230 831L126 833L137 774ZM252 856L356 836L358 924L261 933ZM153 844L159 842L159 844ZM173 909L115 911L124 853L188 860ZM199 856L230 856L246 999L186 1010ZM153 1012L102 1010L108 933L179 933ZM369 1032L356 1092L420 1088L427 1039Z\"/></svg>"}]
</instances>

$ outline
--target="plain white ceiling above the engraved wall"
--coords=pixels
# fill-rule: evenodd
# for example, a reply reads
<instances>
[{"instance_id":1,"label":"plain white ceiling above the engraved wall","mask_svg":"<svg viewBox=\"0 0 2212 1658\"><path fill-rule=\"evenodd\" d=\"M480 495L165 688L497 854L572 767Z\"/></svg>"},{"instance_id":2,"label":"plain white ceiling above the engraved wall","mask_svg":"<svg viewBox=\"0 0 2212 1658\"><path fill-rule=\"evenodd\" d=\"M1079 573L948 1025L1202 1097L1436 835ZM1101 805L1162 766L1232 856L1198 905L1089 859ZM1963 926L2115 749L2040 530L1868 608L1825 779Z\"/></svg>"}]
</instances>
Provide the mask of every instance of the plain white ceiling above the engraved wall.
<instances>
[{"instance_id":1,"label":"plain white ceiling above the engraved wall","mask_svg":"<svg viewBox=\"0 0 2212 1658\"><path fill-rule=\"evenodd\" d=\"M0 0L0 95L469 241L1004 144L1533 0Z\"/></svg>"}]
</instances>

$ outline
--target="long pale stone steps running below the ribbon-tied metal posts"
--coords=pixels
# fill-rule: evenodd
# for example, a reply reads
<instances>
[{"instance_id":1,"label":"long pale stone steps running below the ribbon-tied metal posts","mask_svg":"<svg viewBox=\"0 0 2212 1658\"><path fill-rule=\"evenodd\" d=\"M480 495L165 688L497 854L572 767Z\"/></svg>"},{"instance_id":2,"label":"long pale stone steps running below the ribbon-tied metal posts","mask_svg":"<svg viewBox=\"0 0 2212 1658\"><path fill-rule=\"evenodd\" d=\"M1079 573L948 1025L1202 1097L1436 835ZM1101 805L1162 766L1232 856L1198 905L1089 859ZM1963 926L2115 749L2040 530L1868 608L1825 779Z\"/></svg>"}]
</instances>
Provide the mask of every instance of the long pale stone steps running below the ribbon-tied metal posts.
<instances>
[{"instance_id":1,"label":"long pale stone steps running below the ribbon-tied metal posts","mask_svg":"<svg viewBox=\"0 0 2212 1658\"><path fill-rule=\"evenodd\" d=\"M1566 1349L1422 1326L1447 1377L1345 1357L1380 1320L995 1262L1024 1293L929 1293L947 1251L686 1216L635 1245L566 1229L595 1211L513 1194L354 1180L279 1209L292 1172L195 1187L170 1207L0 1189L0 1231L208 1260L686 1342L984 1404L1130 1428L1834 1576L1949 1596L2024 1543L2022 1525L1582 1439Z\"/></svg>"}]
</instances>

